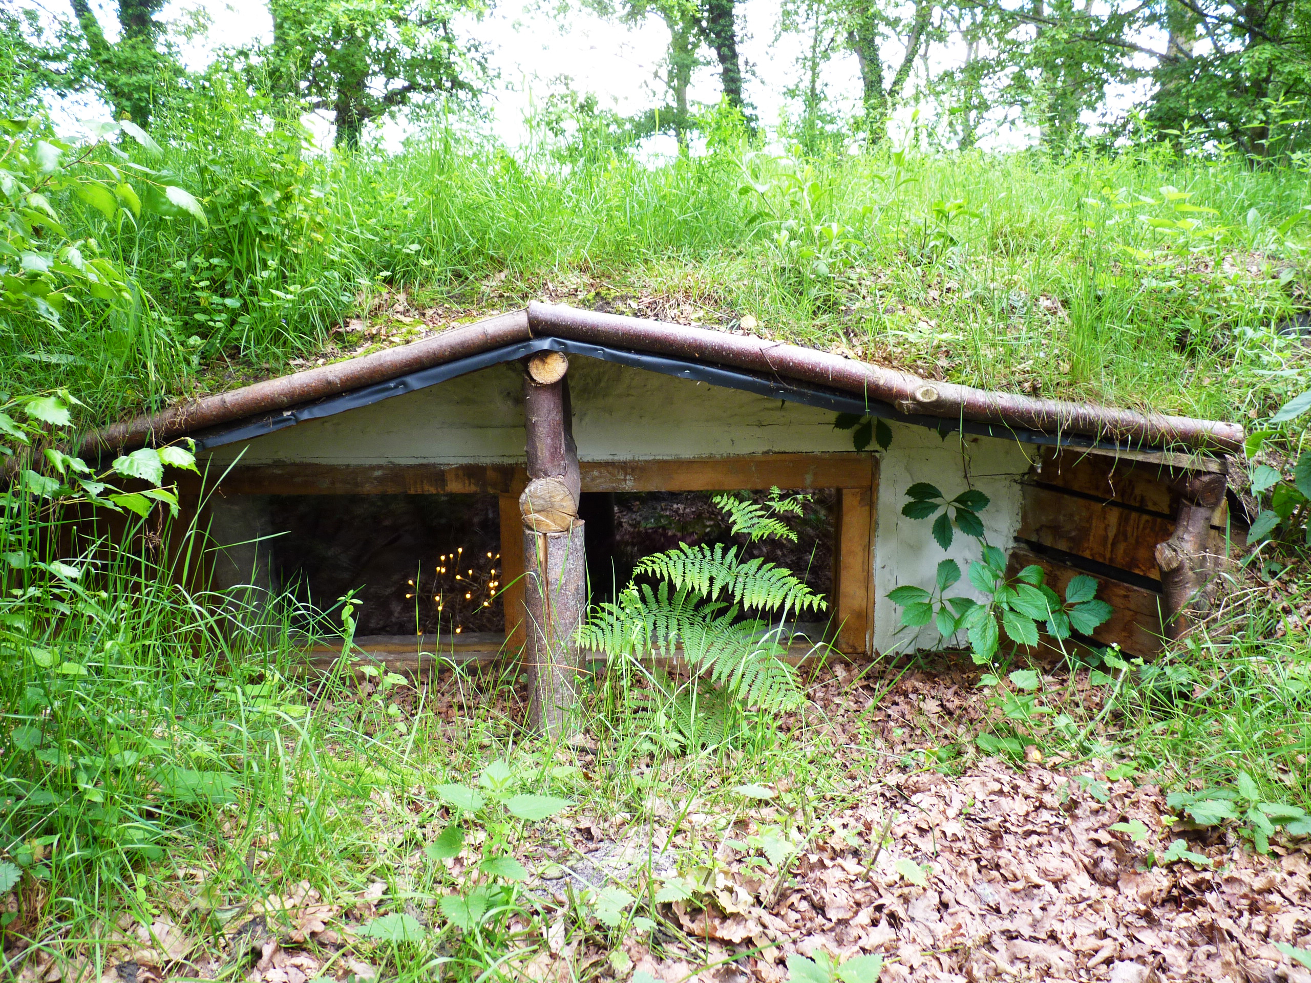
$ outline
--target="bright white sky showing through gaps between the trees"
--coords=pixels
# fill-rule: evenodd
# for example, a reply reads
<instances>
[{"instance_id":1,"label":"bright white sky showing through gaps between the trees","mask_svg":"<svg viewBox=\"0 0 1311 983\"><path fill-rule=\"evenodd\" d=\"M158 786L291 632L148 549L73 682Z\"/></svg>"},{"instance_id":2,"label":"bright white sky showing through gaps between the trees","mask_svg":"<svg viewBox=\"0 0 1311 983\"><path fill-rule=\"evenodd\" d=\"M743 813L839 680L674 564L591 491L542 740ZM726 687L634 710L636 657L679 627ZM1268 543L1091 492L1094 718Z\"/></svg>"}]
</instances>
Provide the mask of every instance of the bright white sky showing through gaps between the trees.
<instances>
[{"instance_id":1,"label":"bright white sky showing through gaps between the trees","mask_svg":"<svg viewBox=\"0 0 1311 983\"><path fill-rule=\"evenodd\" d=\"M47 10L63 9L64 3L28 1L42 3ZM488 96L488 106L493 113L496 131L507 143L515 144L524 138L524 114L534 100L543 98L557 87L560 76L568 76L577 92L595 93L602 106L624 114L637 113L662 98L661 83L654 76L669 35L658 18L652 17L638 28L628 28L578 9L564 20L556 20L522 4L523 0L503 0L484 21L467 28L468 34L488 46L490 63L499 73ZM184 56L191 68L203 67L211 59L214 47L271 39L273 25L265 0L173 0L163 17L166 21L182 21L187 10L197 8L210 17L212 26L207 38L185 47ZM800 77L798 58L805 45L805 38L797 34L777 37L777 16L776 0L745 0L739 4L739 52L746 71L747 100L767 127L779 121L780 111L788 104L784 90ZM109 7L101 5L100 20L106 34L113 37L117 24ZM842 50L827 64L823 77L829 100L839 113L853 111L860 94L855 58ZM910 88L912 87L907 87ZM718 96L718 64L697 69L691 98L714 102ZM56 117L68 123L80 118L109 115L105 106L97 106L93 101L66 104L55 109ZM905 106L898 114L902 125L910 118L911 109ZM307 122L311 122L321 145L328 145L332 140L329 115L319 114L316 119ZM404 123L384 125L383 139L388 145L397 144L404 134ZM1030 138L1028 128L1020 127L992 136L985 145L1017 145ZM646 147L648 152L657 155L673 149L671 138L656 138Z\"/></svg>"}]
</instances>

